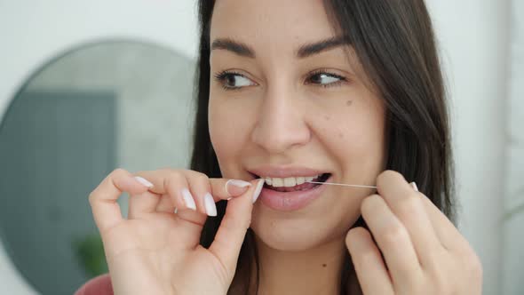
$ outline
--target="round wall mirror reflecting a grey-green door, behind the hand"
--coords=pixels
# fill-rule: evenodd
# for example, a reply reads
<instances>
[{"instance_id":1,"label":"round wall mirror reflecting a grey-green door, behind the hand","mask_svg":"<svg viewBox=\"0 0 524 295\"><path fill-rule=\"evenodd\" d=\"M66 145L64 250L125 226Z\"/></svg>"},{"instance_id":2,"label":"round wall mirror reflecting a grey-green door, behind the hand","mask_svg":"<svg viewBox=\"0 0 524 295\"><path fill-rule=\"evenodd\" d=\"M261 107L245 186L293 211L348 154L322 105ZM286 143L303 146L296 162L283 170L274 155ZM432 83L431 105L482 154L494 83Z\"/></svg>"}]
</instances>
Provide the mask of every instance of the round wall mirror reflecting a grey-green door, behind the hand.
<instances>
[{"instance_id":1,"label":"round wall mirror reflecting a grey-green door, behind the hand","mask_svg":"<svg viewBox=\"0 0 524 295\"><path fill-rule=\"evenodd\" d=\"M116 167L187 167L195 61L105 41L48 62L0 125L0 238L43 294L107 271L88 195ZM119 201L127 213L127 198Z\"/></svg>"}]
</instances>

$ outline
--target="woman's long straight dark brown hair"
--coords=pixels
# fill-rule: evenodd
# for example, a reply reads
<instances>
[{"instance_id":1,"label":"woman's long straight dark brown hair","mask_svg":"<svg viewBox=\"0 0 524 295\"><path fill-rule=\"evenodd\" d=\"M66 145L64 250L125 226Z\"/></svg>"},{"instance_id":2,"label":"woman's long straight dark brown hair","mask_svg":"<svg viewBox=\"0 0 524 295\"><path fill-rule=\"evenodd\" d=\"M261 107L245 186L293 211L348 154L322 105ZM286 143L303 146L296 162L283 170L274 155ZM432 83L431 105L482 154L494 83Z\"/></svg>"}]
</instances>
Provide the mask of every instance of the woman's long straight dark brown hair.
<instances>
[{"instance_id":1,"label":"woman's long straight dark brown hair","mask_svg":"<svg viewBox=\"0 0 524 295\"><path fill-rule=\"evenodd\" d=\"M210 141L210 20L214 0L200 0L200 49L195 72L196 117L191 169L221 177ZM347 38L386 107L386 169L417 182L420 191L455 219L453 163L449 117L433 26L424 0L324 0L331 26ZM209 247L226 211L205 223L201 243ZM364 226L359 219L355 225ZM255 265L252 265L252 264ZM251 274L252 270L257 274ZM257 282L250 290L250 278ZM230 294L258 290L258 257L254 233L242 244ZM342 294L360 293L349 255L340 274Z\"/></svg>"}]
</instances>

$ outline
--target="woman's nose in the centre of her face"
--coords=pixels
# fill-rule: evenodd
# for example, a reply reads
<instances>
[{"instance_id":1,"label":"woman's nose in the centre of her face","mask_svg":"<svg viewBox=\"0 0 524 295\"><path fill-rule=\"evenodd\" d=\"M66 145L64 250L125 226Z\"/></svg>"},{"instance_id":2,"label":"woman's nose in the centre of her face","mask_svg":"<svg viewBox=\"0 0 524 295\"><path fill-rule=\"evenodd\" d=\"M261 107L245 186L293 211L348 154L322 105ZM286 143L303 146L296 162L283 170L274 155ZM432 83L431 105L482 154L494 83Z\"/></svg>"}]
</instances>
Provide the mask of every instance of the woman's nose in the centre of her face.
<instances>
[{"instance_id":1,"label":"woman's nose in the centre of her face","mask_svg":"<svg viewBox=\"0 0 524 295\"><path fill-rule=\"evenodd\" d=\"M283 154L306 144L311 132L298 93L288 87L268 88L251 140L269 154Z\"/></svg>"}]
</instances>

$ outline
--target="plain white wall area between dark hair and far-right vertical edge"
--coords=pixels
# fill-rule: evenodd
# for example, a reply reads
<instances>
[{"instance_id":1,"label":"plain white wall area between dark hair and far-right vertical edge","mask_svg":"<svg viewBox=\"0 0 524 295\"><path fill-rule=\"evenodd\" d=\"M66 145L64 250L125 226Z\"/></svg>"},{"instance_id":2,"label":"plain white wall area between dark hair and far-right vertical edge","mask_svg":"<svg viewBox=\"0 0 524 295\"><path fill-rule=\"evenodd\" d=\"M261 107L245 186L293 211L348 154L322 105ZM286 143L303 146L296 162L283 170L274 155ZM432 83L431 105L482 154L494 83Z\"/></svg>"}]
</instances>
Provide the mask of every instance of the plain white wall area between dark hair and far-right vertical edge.
<instances>
[{"instance_id":1,"label":"plain white wall area between dark hair and far-right vertical edge","mask_svg":"<svg viewBox=\"0 0 524 295\"><path fill-rule=\"evenodd\" d=\"M452 100L462 233L484 267L484 294L500 293L509 3L430 0Z\"/></svg>"}]
</instances>

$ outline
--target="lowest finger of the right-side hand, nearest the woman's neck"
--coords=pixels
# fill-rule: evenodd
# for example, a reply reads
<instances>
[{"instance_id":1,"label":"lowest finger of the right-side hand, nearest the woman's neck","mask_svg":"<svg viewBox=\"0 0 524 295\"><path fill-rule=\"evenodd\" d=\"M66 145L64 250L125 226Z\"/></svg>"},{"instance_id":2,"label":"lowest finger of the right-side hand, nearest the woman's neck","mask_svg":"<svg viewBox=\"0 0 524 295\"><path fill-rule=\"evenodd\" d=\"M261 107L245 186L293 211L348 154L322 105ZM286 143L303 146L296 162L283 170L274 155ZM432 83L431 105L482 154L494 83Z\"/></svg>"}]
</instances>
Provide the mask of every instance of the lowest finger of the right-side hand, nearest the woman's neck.
<instances>
[{"instance_id":1,"label":"lowest finger of the right-side hand, nearest the woman's neck","mask_svg":"<svg viewBox=\"0 0 524 295\"><path fill-rule=\"evenodd\" d=\"M393 283L369 231L352 228L345 236L361 289L366 295L393 295Z\"/></svg>"}]
</instances>

